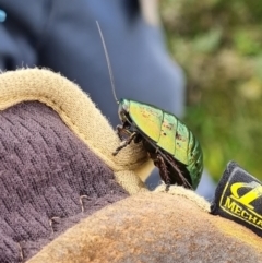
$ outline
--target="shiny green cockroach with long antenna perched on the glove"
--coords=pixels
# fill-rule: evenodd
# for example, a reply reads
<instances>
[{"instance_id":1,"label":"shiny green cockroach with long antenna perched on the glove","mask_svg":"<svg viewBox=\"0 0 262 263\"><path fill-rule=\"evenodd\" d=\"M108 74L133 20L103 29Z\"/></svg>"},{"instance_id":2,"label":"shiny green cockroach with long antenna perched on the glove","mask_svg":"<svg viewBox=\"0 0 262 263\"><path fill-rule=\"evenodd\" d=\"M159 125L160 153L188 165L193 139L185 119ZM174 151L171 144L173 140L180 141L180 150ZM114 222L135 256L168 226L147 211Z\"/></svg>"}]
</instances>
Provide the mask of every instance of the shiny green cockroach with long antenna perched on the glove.
<instances>
[{"instance_id":1,"label":"shiny green cockroach with long antenna perched on the glove","mask_svg":"<svg viewBox=\"0 0 262 263\"><path fill-rule=\"evenodd\" d=\"M132 141L142 142L158 167L160 178L167 186L166 190L170 184L196 189L203 171L203 154L199 141L175 115L153 105L117 99L111 65L98 23L97 27L106 55L112 93L119 104L118 115L122 122L117 127L122 143L112 154L117 155Z\"/></svg>"}]
</instances>

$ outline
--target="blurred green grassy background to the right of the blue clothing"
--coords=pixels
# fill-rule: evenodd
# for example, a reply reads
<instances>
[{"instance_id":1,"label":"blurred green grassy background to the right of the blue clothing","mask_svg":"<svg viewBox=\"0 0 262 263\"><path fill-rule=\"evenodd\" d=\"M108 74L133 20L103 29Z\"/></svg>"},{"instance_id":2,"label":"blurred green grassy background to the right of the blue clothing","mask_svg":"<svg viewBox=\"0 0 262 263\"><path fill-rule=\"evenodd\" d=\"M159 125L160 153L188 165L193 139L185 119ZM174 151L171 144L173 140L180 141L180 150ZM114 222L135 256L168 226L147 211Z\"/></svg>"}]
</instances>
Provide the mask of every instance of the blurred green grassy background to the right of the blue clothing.
<instances>
[{"instance_id":1,"label":"blurred green grassy background to the right of the blue clothing","mask_svg":"<svg viewBox=\"0 0 262 263\"><path fill-rule=\"evenodd\" d=\"M262 2L163 0L168 48L187 74L184 122L217 181L234 159L262 179Z\"/></svg>"}]
</instances>

